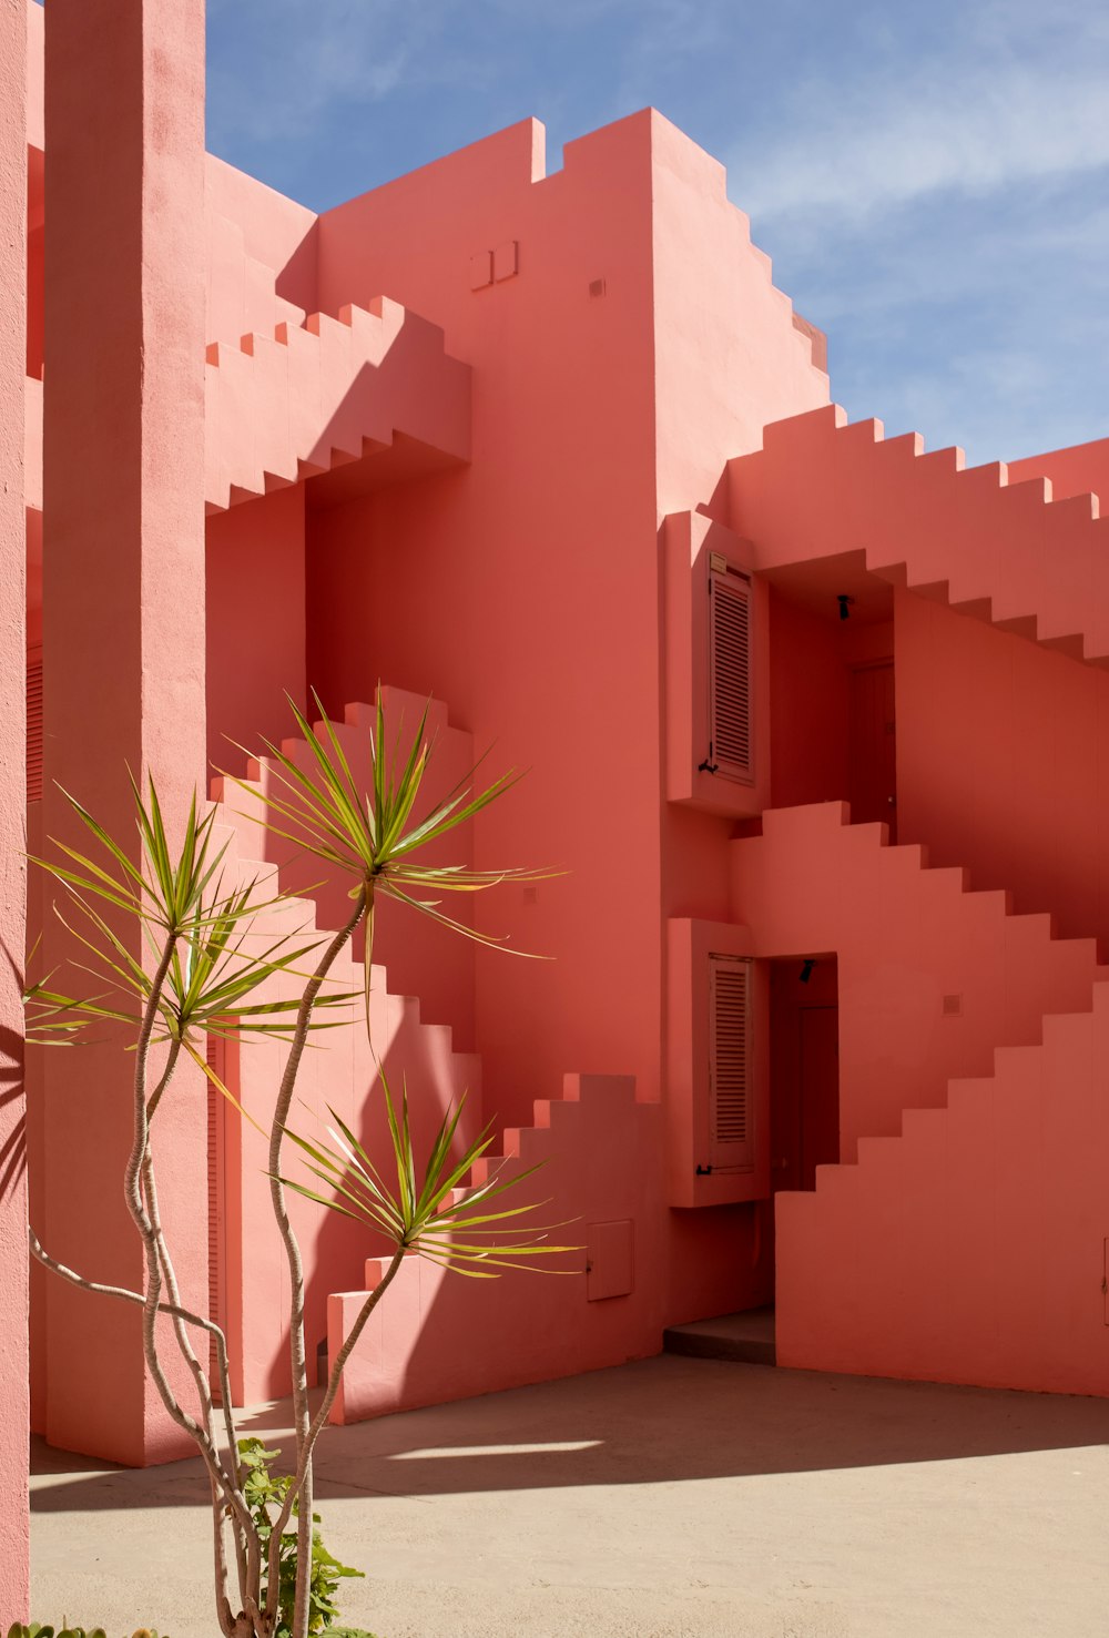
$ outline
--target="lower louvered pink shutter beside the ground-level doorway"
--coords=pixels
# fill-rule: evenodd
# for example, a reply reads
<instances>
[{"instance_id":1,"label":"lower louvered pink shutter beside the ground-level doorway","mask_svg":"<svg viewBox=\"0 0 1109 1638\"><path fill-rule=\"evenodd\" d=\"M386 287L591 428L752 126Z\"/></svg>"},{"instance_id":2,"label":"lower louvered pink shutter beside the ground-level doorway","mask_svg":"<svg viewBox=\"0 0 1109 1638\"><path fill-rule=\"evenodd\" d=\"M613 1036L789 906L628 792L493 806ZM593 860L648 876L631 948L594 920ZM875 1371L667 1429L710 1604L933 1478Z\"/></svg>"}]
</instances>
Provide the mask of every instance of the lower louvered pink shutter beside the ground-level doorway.
<instances>
[{"instance_id":1,"label":"lower louvered pink shutter beside the ground-level doorway","mask_svg":"<svg viewBox=\"0 0 1109 1638\"><path fill-rule=\"evenodd\" d=\"M750 962L709 955L709 1163L754 1166Z\"/></svg>"}]
</instances>

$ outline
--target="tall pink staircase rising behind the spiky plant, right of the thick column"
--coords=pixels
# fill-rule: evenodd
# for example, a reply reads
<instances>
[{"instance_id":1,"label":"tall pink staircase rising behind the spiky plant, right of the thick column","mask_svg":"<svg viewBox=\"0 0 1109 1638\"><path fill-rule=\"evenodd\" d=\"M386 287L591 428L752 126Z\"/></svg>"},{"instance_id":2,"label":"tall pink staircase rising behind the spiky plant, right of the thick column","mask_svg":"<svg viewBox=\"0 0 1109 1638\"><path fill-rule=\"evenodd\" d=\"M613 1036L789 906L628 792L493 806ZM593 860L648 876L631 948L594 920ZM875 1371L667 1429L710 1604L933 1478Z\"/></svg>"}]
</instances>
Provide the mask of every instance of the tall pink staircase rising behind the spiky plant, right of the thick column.
<instances>
[{"instance_id":1,"label":"tall pink staircase rising behind the spiky plant, right of the thick column","mask_svg":"<svg viewBox=\"0 0 1109 1638\"><path fill-rule=\"evenodd\" d=\"M410 696L387 693L390 721L396 722L398 701ZM369 709L351 706L346 713L346 737L349 753L360 749L369 755ZM446 711L434 708L434 717ZM411 721L414 732L419 713ZM452 740L454 735L454 740ZM447 762L457 760L468 735L449 731ZM459 744L460 742L460 744ZM293 755L305 752L288 742ZM264 768L256 768L264 775ZM449 768L441 765L441 778ZM228 790L229 785L229 790ZM216 829L220 842L228 844L224 855L224 888L257 878L259 896L272 896L278 885L288 891L287 870L275 858L257 858L265 852L269 832L242 817L249 796L229 781L216 781ZM459 832L460 835L460 832ZM260 845L262 844L262 845ZM459 847L455 845L455 857ZM252 857L256 855L256 857ZM316 898L324 903L334 885L323 885ZM344 898L344 904L349 904ZM342 912L342 919L349 914ZM410 921L419 922L414 914ZM287 932L296 945L324 943L331 929L341 925L337 917L321 914L316 899L290 898L275 912L259 919L257 932L249 934L262 948ZM462 940L455 940L455 947ZM413 950L405 952L413 960ZM467 960L467 952L462 952ZM305 957L303 973L311 970L316 957ZM390 970L392 971L392 970ZM300 994L303 973L278 975L259 991L259 999L285 999ZM392 980L396 988L396 978ZM346 950L331 970L329 984L336 991L362 991L364 973L357 952ZM442 988L442 984L441 984ZM467 1019L467 1032L472 1022ZM372 1042L372 1045L370 1045ZM247 1114L264 1129L274 1107L287 1048L277 1040L247 1042L229 1050L224 1063L224 1079ZM447 1024L426 1022L421 1001L413 994L392 993L387 971L373 965L370 976L370 1040L360 1020L360 1001L354 1004L354 1020L346 1030L328 1032L321 1050L310 1050L301 1061L292 1125L305 1135L321 1132L329 1122L328 1107L365 1143L375 1165L388 1176L392 1171L392 1147L383 1122L380 1101L378 1063L385 1068L390 1084L408 1089L410 1114L416 1150L426 1152L450 1106L467 1096L465 1114L455 1135L455 1153L472 1142L483 1124L480 1060L470 1052L455 1048L454 1032ZM216 1160L223 1178L220 1220L226 1225L220 1263L218 1309L228 1325L233 1355L233 1392L236 1402L254 1402L288 1392L287 1330L283 1324L285 1268L280 1242L272 1233L269 1206L269 1179L265 1140L246 1120L241 1120L220 1101L210 1111L216 1122ZM318 1125L316 1125L318 1122ZM296 1174L296 1156L287 1152L287 1163ZM210 1184L215 1188L215 1181ZM301 1197L290 1197L290 1217L300 1235L308 1276L306 1338L310 1360L326 1333L328 1292L362 1279L370 1233L344 1217L315 1206Z\"/></svg>"}]
</instances>

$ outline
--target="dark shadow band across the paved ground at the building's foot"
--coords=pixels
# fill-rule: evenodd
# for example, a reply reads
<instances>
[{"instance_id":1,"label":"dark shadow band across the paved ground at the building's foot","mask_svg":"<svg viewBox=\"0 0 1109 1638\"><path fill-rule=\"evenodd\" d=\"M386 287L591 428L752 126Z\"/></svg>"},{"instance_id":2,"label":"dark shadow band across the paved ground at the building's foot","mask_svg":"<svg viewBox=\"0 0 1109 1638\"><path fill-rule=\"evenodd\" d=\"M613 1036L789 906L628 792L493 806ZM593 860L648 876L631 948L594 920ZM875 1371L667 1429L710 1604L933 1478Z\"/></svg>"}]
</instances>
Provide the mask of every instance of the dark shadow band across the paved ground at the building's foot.
<instances>
[{"instance_id":1,"label":"dark shadow band across the paved ground at the building's foot","mask_svg":"<svg viewBox=\"0 0 1109 1638\"><path fill-rule=\"evenodd\" d=\"M288 1402L239 1415L282 1443ZM319 1499L667 1484L1078 1450L1109 1400L660 1356L539 1387L328 1428ZM195 1505L200 1461L124 1469L31 1451L31 1509Z\"/></svg>"}]
</instances>

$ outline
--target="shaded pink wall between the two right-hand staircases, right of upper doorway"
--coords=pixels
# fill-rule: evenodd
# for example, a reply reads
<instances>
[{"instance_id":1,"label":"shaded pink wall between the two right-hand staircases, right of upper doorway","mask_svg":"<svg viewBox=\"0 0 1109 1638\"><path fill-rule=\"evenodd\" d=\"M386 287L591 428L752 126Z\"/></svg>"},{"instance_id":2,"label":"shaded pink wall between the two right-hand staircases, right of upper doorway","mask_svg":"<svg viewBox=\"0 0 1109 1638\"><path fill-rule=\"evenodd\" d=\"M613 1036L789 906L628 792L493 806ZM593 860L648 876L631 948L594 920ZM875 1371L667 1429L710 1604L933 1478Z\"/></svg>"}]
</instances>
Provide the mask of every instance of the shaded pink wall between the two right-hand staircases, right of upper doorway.
<instances>
[{"instance_id":1,"label":"shaded pink wall between the two right-hand staircases, right of upper doorway","mask_svg":"<svg viewBox=\"0 0 1109 1638\"><path fill-rule=\"evenodd\" d=\"M901 840L1109 939L1109 676L911 593L896 598Z\"/></svg>"}]
</instances>

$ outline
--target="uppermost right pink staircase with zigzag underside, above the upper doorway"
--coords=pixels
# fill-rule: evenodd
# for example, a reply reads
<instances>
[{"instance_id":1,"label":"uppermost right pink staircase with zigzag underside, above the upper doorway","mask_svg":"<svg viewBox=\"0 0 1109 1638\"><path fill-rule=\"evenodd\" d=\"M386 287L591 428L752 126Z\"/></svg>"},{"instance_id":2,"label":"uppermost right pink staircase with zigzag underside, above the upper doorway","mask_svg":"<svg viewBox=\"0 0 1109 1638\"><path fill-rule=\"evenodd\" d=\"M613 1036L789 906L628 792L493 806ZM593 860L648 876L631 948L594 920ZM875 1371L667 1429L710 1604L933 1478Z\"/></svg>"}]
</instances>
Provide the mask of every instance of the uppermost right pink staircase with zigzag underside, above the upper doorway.
<instances>
[{"instance_id":1,"label":"uppermost right pink staircase with zigzag underside, above the upper doorway","mask_svg":"<svg viewBox=\"0 0 1109 1638\"><path fill-rule=\"evenodd\" d=\"M760 570L862 554L893 585L1109 663L1109 518L1096 495L1052 501L1045 478L1009 483L1004 464L926 454L916 432L886 439L839 405L767 426L760 450L729 462L729 495Z\"/></svg>"}]
</instances>

